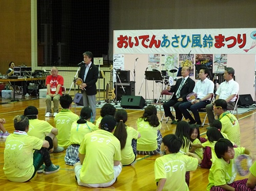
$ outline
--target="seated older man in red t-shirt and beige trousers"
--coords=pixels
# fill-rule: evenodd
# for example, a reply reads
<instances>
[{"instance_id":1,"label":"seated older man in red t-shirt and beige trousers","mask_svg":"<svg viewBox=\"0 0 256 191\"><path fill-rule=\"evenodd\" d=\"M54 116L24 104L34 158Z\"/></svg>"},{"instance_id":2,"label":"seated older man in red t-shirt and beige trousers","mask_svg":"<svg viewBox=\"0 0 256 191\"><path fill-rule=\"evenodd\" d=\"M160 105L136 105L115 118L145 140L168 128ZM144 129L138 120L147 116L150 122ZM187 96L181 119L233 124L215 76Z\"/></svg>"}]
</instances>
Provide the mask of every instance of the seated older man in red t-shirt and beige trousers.
<instances>
[{"instance_id":1,"label":"seated older man in red t-shirt and beige trousers","mask_svg":"<svg viewBox=\"0 0 256 191\"><path fill-rule=\"evenodd\" d=\"M46 95L46 117L52 115L51 101L53 100L53 116L55 117L59 110L59 98L62 96L61 86L64 83L63 77L58 75L58 68L53 66L51 68L50 76L46 78L47 95Z\"/></svg>"}]
</instances>

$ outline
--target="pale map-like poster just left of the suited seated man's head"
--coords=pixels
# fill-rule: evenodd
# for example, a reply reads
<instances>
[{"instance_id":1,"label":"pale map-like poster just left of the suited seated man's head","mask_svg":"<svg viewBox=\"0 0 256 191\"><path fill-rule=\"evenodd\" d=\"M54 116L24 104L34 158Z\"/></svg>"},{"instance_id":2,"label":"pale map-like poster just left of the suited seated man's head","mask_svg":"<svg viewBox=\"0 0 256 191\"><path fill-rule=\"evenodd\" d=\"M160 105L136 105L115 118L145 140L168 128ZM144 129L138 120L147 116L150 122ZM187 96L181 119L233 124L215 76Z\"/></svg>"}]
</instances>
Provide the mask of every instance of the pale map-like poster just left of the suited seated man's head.
<instances>
[{"instance_id":1,"label":"pale map-like poster just left of the suited seated man's head","mask_svg":"<svg viewBox=\"0 0 256 191\"><path fill-rule=\"evenodd\" d=\"M161 56L162 70L167 71L166 76L176 77L178 72L178 55L177 54L162 54ZM170 72L170 70L176 72Z\"/></svg>"}]
</instances>

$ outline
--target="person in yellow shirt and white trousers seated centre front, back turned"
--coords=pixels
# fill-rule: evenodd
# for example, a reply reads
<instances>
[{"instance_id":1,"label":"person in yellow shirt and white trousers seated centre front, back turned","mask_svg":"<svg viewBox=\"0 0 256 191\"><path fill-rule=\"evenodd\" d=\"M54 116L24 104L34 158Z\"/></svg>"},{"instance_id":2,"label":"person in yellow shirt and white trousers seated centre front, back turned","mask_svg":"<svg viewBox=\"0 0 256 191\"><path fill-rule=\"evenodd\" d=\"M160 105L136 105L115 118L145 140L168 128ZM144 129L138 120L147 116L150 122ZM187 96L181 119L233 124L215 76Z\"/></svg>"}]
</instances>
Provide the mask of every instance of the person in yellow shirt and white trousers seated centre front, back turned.
<instances>
[{"instance_id":1,"label":"person in yellow shirt and white trousers seated centre front, back turned","mask_svg":"<svg viewBox=\"0 0 256 191\"><path fill-rule=\"evenodd\" d=\"M74 165L78 185L109 187L115 183L122 170L120 142L112 134L115 126L114 116L105 115L99 130L84 135L78 150L80 162Z\"/></svg>"}]
</instances>

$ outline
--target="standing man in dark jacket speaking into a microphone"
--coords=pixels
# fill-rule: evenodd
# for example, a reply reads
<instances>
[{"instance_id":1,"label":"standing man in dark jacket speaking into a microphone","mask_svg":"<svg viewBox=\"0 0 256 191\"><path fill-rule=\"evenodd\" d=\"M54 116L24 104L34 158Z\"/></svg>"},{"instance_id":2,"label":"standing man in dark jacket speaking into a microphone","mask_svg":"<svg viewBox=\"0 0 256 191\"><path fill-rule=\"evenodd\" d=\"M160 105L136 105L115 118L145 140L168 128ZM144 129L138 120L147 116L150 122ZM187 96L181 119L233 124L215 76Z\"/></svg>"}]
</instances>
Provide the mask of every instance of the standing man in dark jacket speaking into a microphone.
<instances>
[{"instance_id":1,"label":"standing man in dark jacket speaking into a microphone","mask_svg":"<svg viewBox=\"0 0 256 191\"><path fill-rule=\"evenodd\" d=\"M99 77L99 69L92 63L93 54L91 52L85 52L83 55L83 61L85 64L81 66L79 78L83 83L80 84L82 90L82 100L84 107L90 107L93 111L93 122L96 117L96 82Z\"/></svg>"}]
</instances>

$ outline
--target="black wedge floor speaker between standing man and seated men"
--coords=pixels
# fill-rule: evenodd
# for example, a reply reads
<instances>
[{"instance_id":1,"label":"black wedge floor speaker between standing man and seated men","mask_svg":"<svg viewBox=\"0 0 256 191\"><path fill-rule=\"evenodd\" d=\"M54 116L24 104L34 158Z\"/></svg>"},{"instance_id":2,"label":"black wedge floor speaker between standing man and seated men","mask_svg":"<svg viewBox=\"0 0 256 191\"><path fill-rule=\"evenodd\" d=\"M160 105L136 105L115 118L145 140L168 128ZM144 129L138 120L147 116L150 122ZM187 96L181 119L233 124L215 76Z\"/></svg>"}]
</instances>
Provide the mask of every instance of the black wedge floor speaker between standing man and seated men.
<instances>
[{"instance_id":1,"label":"black wedge floor speaker between standing man and seated men","mask_svg":"<svg viewBox=\"0 0 256 191\"><path fill-rule=\"evenodd\" d=\"M121 107L125 109L142 109L145 106L145 100L142 96L123 96Z\"/></svg>"}]
</instances>

